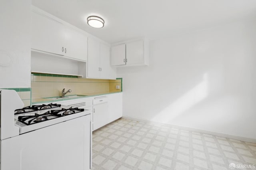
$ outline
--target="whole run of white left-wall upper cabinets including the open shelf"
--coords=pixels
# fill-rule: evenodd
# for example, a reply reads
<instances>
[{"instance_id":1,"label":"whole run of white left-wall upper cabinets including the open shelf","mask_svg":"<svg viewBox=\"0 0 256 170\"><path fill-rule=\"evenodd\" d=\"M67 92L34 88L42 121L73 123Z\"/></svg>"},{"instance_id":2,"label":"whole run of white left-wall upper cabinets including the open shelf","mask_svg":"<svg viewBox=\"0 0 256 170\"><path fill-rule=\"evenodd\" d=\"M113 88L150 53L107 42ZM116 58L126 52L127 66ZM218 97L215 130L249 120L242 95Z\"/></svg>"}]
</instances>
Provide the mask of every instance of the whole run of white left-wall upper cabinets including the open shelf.
<instances>
[{"instance_id":1,"label":"whole run of white left-wall upper cabinets including the open shelf","mask_svg":"<svg viewBox=\"0 0 256 170\"><path fill-rule=\"evenodd\" d=\"M32 71L116 79L116 68L110 65L110 45L35 6L31 16ZM54 63L59 66L50 67Z\"/></svg>"}]
</instances>

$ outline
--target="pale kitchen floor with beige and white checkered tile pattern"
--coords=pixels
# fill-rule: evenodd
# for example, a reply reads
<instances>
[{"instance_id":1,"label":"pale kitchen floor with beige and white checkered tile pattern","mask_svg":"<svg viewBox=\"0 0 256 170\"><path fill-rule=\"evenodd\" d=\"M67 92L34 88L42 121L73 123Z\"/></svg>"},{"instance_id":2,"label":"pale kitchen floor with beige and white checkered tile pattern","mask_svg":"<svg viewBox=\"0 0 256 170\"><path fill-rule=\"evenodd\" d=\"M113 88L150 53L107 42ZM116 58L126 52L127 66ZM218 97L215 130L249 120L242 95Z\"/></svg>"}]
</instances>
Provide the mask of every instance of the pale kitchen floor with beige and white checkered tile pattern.
<instances>
[{"instance_id":1,"label":"pale kitchen floor with beige and white checkered tile pattern","mask_svg":"<svg viewBox=\"0 0 256 170\"><path fill-rule=\"evenodd\" d=\"M128 119L93 132L92 149L93 170L256 169L255 143Z\"/></svg>"}]
</instances>

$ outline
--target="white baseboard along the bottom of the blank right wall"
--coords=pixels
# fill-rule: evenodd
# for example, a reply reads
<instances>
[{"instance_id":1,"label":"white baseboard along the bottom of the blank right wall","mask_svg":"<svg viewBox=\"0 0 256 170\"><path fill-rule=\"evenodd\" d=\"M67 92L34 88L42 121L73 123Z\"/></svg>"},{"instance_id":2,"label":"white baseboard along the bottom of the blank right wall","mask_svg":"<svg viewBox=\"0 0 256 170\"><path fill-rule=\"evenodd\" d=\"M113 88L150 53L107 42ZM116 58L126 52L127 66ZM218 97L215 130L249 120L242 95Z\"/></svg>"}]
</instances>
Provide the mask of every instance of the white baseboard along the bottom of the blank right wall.
<instances>
[{"instance_id":1,"label":"white baseboard along the bottom of the blank right wall","mask_svg":"<svg viewBox=\"0 0 256 170\"><path fill-rule=\"evenodd\" d=\"M211 134L211 135L214 135L214 136L220 136L220 137L224 137L224 138L231 138L231 139L241 140L241 141L244 141L244 142L256 143L256 139L254 139L254 138L246 138L246 137L242 137L242 136L235 136L235 135L232 135L232 134L225 134L225 133L221 133L221 132L214 132L214 131L203 130L203 129L198 129L198 128L182 127L182 126L178 126L178 125L172 125L172 124L161 123L161 122L154 122L154 121L149 121L147 119L140 119L140 118L129 117L129 116L122 116L122 118L130 119L130 120L133 120L133 121L145 122L145 123L149 123L151 125L165 125L165 126L168 126L168 127L177 127L177 128L181 128L183 130L189 130L189 131L193 131L193 132Z\"/></svg>"}]
</instances>

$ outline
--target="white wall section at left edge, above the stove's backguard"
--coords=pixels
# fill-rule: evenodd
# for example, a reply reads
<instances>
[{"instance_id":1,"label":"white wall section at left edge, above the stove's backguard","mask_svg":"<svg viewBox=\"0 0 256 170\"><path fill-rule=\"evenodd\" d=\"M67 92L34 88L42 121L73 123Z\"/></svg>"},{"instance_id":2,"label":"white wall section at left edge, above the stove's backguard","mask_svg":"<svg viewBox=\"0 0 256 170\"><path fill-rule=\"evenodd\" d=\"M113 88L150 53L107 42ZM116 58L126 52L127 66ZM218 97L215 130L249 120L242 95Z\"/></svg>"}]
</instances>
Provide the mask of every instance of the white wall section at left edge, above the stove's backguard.
<instances>
[{"instance_id":1,"label":"white wall section at left edge, above the stove's backguard","mask_svg":"<svg viewBox=\"0 0 256 170\"><path fill-rule=\"evenodd\" d=\"M31 0L1 0L0 88L30 87Z\"/></svg>"}]
</instances>

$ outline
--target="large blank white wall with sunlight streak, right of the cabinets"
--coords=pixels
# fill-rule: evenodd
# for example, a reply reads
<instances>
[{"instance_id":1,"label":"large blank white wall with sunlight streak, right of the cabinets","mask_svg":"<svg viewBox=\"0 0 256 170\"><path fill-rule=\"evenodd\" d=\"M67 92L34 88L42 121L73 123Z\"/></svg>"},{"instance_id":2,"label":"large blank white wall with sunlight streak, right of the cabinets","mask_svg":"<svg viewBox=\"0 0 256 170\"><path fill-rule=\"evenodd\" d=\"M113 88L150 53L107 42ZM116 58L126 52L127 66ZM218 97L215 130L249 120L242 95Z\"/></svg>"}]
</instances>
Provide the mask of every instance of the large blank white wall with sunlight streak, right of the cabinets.
<instances>
[{"instance_id":1,"label":"large blank white wall with sunlight streak, right of the cabinets","mask_svg":"<svg viewBox=\"0 0 256 170\"><path fill-rule=\"evenodd\" d=\"M255 21L150 41L118 77L124 116L256 139Z\"/></svg>"}]
</instances>

